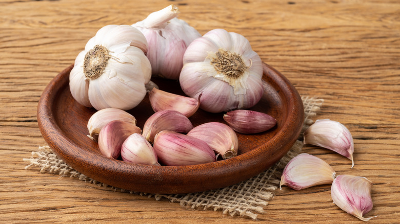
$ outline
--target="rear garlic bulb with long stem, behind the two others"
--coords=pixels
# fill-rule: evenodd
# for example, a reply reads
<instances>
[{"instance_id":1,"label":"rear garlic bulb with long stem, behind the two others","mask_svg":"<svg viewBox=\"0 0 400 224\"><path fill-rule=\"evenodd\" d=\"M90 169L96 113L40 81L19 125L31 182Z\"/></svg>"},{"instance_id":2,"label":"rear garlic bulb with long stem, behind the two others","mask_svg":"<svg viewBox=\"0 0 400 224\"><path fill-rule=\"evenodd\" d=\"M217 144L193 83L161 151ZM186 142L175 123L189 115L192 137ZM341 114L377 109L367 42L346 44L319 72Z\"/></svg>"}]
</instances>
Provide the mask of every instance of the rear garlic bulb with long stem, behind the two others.
<instances>
[{"instance_id":1,"label":"rear garlic bulb with long stem, behind the two others","mask_svg":"<svg viewBox=\"0 0 400 224\"><path fill-rule=\"evenodd\" d=\"M178 8L170 5L132 25L142 31L149 43L147 57L153 75L178 79L187 46L202 36L184 20L176 18L178 13Z\"/></svg>"}]
</instances>

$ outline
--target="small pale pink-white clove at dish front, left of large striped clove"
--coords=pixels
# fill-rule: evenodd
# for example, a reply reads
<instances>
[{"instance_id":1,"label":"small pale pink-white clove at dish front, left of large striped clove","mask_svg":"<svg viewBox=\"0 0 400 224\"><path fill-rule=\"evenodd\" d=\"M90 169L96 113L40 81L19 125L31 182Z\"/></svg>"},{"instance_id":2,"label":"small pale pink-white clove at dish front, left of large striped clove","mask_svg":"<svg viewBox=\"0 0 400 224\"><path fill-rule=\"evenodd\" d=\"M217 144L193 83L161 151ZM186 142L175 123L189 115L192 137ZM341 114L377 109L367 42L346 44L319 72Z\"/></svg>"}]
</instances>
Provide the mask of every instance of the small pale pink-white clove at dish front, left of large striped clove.
<instances>
[{"instance_id":1,"label":"small pale pink-white clove at dish front, left of large striped clove","mask_svg":"<svg viewBox=\"0 0 400 224\"><path fill-rule=\"evenodd\" d=\"M121 157L129 163L159 166L153 147L139 133L133 133L125 140L121 148Z\"/></svg>"}]
</instances>

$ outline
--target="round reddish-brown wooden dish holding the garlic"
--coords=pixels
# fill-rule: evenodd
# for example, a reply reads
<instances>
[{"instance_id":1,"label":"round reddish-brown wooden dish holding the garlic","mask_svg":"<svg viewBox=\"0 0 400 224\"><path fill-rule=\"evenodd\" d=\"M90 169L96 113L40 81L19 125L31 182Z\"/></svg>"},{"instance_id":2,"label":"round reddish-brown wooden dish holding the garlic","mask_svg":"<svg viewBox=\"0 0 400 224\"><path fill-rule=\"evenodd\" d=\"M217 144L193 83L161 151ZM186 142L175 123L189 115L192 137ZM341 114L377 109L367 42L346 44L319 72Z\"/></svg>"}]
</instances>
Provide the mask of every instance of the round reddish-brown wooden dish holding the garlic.
<instances>
[{"instance_id":1,"label":"round reddish-brown wooden dish holding the garlic","mask_svg":"<svg viewBox=\"0 0 400 224\"><path fill-rule=\"evenodd\" d=\"M37 120L45 141L68 165L96 181L145 193L190 193L230 186L257 175L281 159L296 141L303 126L304 109L293 85L271 66L264 64L265 94L252 110L276 118L277 125L256 135L237 133L238 155L213 163L190 166L150 166L108 159L90 140L86 127L95 109L78 104L69 90L73 65L59 73L45 88L37 107ZM179 82L152 79L160 89L181 94ZM143 129L154 112L146 98L128 111ZM199 109L190 121L194 126L222 122L224 113Z\"/></svg>"}]
</instances>

